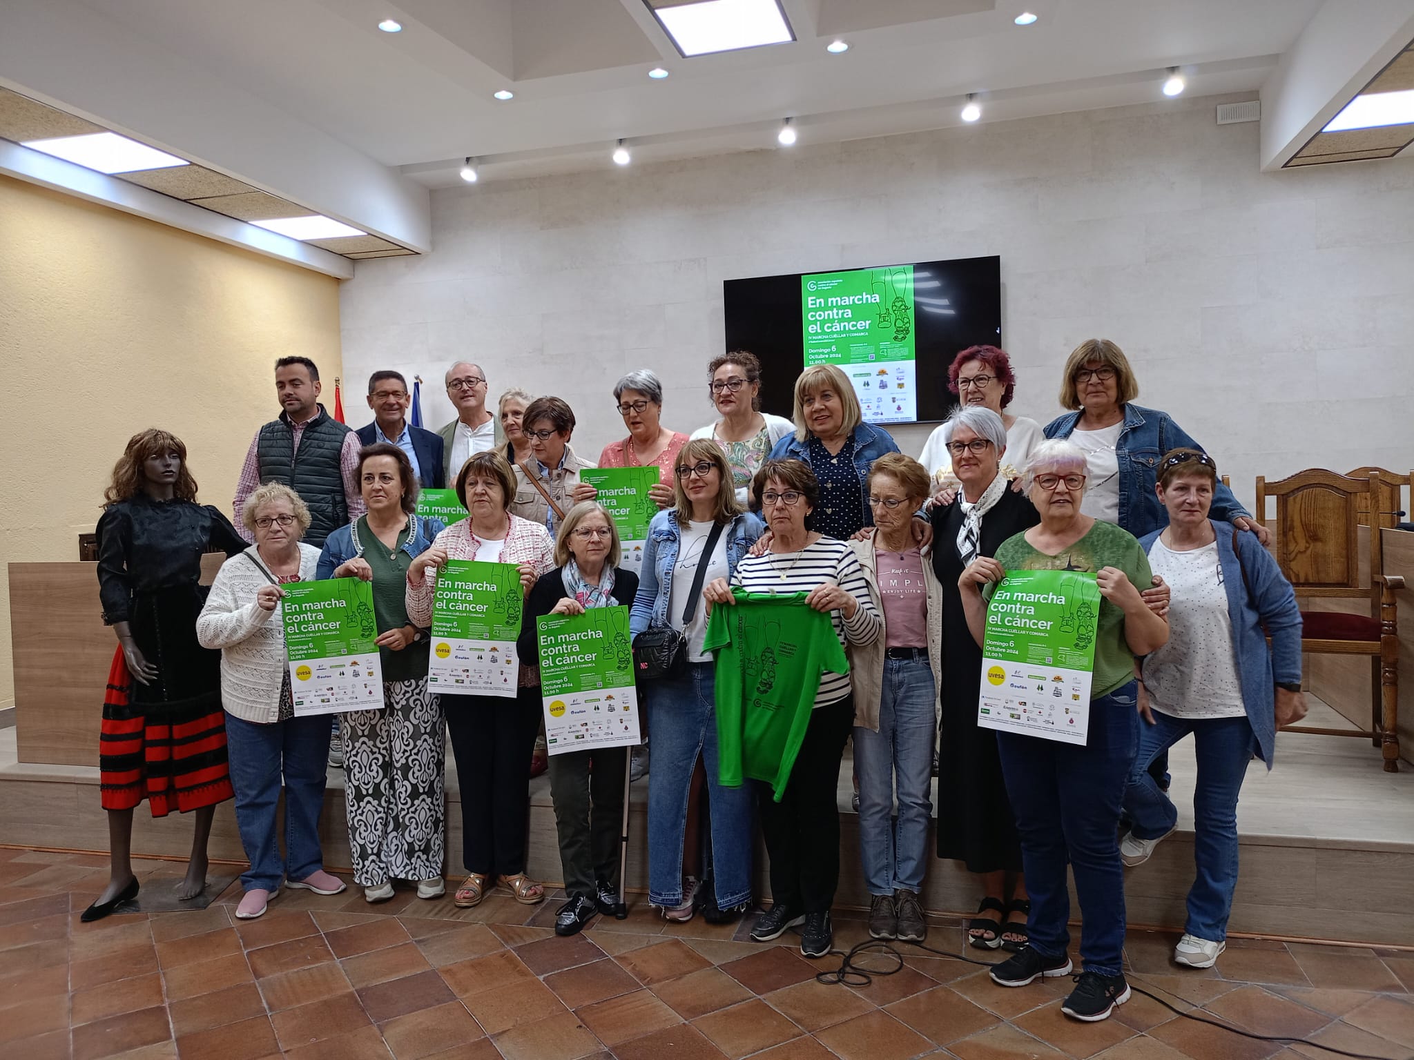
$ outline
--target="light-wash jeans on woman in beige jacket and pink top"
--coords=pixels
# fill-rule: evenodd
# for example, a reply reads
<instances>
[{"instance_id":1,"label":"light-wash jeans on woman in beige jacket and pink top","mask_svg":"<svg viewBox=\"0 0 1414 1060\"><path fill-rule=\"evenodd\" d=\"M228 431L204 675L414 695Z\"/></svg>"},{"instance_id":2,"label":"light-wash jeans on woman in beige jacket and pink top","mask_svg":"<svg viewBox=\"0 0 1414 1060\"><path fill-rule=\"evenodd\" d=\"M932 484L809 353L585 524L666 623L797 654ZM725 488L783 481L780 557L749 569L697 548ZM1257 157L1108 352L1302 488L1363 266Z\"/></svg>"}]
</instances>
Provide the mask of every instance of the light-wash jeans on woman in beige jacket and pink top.
<instances>
[{"instance_id":1,"label":"light-wash jeans on woman in beige jacket and pink top","mask_svg":"<svg viewBox=\"0 0 1414 1060\"><path fill-rule=\"evenodd\" d=\"M871 895L923 889L933 813L933 670L928 659L885 659L880 731L854 726L860 775L860 858ZM898 823L894 789L898 786Z\"/></svg>"}]
</instances>

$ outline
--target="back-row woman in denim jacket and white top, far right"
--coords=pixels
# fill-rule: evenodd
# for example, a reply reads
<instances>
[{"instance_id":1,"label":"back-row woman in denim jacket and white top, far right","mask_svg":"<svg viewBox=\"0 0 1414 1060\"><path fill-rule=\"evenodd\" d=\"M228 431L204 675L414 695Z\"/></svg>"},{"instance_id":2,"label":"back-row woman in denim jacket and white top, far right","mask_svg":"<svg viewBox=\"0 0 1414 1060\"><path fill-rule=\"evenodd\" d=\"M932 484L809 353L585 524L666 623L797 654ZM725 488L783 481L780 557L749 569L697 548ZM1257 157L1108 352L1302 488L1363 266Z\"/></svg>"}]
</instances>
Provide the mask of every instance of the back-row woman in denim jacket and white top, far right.
<instances>
[{"instance_id":1,"label":"back-row woman in denim jacket and white top, far right","mask_svg":"<svg viewBox=\"0 0 1414 1060\"><path fill-rule=\"evenodd\" d=\"M1048 438L1069 438L1086 459L1085 514L1124 527L1135 537L1164 526L1168 513L1154 486L1158 461L1174 448L1203 451L1168 413L1134 404L1140 384L1124 351L1109 339L1086 339L1066 358L1060 407L1075 411L1045 427ZM1251 530L1267 544L1270 533L1253 520L1222 482L1213 492L1213 519Z\"/></svg>"}]
</instances>

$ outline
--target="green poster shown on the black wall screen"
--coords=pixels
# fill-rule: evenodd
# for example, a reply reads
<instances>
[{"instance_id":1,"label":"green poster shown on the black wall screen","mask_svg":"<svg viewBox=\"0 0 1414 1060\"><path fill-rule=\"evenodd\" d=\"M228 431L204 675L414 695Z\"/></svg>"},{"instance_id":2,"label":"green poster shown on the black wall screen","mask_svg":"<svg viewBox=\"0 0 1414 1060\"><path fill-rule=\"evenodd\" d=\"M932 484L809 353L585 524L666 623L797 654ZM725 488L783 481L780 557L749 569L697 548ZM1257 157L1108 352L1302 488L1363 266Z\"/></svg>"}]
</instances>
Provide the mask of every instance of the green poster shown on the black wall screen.
<instances>
[{"instance_id":1,"label":"green poster shown on the black wall screen","mask_svg":"<svg viewBox=\"0 0 1414 1060\"><path fill-rule=\"evenodd\" d=\"M802 276L806 367L837 365L870 423L916 420L913 311L913 266Z\"/></svg>"}]
</instances>

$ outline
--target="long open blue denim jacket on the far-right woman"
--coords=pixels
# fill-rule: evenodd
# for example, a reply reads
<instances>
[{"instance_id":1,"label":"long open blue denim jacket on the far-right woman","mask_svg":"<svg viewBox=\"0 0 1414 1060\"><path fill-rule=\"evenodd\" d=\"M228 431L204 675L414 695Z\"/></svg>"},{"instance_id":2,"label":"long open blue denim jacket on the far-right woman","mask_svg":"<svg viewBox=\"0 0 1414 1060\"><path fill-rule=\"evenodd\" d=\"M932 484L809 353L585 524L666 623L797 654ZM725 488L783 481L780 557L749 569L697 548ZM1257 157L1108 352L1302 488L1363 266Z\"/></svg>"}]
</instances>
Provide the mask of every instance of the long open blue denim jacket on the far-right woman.
<instances>
[{"instance_id":1,"label":"long open blue denim jacket on the far-right woman","mask_svg":"<svg viewBox=\"0 0 1414 1060\"><path fill-rule=\"evenodd\" d=\"M1209 522L1217 534L1241 702L1261 760L1271 769L1277 743L1275 683L1301 684L1301 611L1291 582L1256 534L1233 533L1230 523ZM1161 533L1155 530L1140 538L1145 553L1152 551Z\"/></svg>"}]
</instances>

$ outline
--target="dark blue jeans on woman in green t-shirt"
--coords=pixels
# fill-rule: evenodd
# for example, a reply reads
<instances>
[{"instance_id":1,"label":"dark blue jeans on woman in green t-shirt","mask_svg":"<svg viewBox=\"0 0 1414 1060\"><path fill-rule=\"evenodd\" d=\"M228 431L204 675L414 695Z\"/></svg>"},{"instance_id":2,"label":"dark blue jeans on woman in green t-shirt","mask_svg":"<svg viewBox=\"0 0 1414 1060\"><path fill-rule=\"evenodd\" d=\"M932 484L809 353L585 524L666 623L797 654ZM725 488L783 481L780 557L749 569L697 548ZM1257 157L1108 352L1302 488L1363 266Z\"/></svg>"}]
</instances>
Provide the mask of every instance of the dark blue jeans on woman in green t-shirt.
<instances>
[{"instance_id":1,"label":"dark blue jeans on woman in green t-shirt","mask_svg":"<svg viewBox=\"0 0 1414 1060\"><path fill-rule=\"evenodd\" d=\"M1118 975L1124 957L1124 864L1120 861L1120 804L1138 748L1135 684L1090 701L1086 745L998 732L1001 772L1017 814L1021 864L1031 895L1027 930L1042 957L1070 946L1066 921L1075 873L1085 930L1086 971Z\"/></svg>"}]
</instances>

